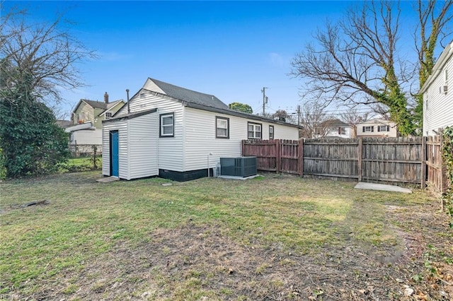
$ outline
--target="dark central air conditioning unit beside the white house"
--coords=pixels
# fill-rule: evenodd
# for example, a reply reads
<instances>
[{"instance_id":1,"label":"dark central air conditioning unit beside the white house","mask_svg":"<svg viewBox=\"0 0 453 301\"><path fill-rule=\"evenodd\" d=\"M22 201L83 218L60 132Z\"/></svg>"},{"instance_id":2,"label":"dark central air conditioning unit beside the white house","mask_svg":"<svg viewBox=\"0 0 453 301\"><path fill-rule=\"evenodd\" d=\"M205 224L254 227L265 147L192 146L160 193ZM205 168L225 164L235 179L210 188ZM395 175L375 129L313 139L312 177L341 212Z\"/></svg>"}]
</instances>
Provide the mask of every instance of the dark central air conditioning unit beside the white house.
<instances>
[{"instance_id":1,"label":"dark central air conditioning unit beside the white house","mask_svg":"<svg viewBox=\"0 0 453 301\"><path fill-rule=\"evenodd\" d=\"M256 175L256 157L220 158L220 175L232 177Z\"/></svg>"}]
</instances>

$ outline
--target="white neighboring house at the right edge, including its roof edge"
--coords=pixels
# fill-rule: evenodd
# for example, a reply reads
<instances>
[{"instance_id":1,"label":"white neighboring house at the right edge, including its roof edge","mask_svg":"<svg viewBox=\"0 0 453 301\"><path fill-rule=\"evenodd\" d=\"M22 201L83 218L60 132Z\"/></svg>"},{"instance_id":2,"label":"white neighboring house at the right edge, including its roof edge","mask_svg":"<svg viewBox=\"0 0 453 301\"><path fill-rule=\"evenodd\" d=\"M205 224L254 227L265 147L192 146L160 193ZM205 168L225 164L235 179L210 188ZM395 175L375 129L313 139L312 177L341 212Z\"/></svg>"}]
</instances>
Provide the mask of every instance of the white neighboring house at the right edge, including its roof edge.
<instances>
[{"instance_id":1,"label":"white neighboring house at the right edge, including its roof edge","mask_svg":"<svg viewBox=\"0 0 453 301\"><path fill-rule=\"evenodd\" d=\"M453 126L453 42L440 54L423 87L423 135Z\"/></svg>"}]
</instances>

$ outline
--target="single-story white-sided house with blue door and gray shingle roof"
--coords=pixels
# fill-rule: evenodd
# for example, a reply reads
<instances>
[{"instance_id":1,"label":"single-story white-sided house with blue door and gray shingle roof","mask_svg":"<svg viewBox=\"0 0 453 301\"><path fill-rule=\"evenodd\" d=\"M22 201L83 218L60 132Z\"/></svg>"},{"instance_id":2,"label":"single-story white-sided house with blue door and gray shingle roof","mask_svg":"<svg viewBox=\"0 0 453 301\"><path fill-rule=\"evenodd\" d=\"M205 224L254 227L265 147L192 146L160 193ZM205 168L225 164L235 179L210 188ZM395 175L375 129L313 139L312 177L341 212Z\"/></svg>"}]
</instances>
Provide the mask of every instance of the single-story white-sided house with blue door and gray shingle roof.
<instances>
[{"instance_id":1,"label":"single-story white-sided house with blue door and gray shingle roof","mask_svg":"<svg viewBox=\"0 0 453 301\"><path fill-rule=\"evenodd\" d=\"M299 126L230 110L214 95L148 78L103 121L103 175L206 177L220 158L241 156L243 139L299 138Z\"/></svg>"}]
</instances>

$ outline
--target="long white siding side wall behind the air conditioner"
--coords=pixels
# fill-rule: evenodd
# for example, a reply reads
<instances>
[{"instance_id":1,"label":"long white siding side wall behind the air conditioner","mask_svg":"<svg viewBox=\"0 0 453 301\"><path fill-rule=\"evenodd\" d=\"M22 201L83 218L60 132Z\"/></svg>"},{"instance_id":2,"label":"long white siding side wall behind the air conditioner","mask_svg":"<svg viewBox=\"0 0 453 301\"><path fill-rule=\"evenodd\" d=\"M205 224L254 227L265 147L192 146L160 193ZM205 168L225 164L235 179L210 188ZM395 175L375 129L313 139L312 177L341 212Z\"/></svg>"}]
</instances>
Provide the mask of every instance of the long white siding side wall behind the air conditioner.
<instances>
[{"instance_id":1,"label":"long white siding side wall behind the air conditioner","mask_svg":"<svg viewBox=\"0 0 453 301\"><path fill-rule=\"evenodd\" d=\"M215 138L216 116L229 118L229 139ZM275 139L299 139L299 131L295 127L185 107L184 171L207 168L209 153L213 154L210 155L210 167L215 167L221 157L240 156L241 141L247 138L247 122L262 124L265 140L269 138L269 125L274 126Z\"/></svg>"}]
</instances>

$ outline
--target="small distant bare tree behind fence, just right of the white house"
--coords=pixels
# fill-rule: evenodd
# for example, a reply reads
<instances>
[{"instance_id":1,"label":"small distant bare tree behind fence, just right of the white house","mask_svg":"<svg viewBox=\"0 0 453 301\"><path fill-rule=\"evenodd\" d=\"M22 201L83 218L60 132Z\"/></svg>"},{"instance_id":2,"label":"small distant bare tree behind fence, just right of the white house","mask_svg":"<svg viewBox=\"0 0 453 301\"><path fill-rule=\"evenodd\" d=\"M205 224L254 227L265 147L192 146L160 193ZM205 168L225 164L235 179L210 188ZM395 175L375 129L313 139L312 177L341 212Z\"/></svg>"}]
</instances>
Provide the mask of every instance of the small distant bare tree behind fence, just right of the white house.
<instances>
[{"instance_id":1,"label":"small distant bare tree behind fence, just right of the white house","mask_svg":"<svg viewBox=\"0 0 453 301\"><path fill-rule=\"evenodd\" d=\"M325 137L328 134L326 107L321 101L307 101L302 105L300 138Z\"/></svg>"}]
</instances>

